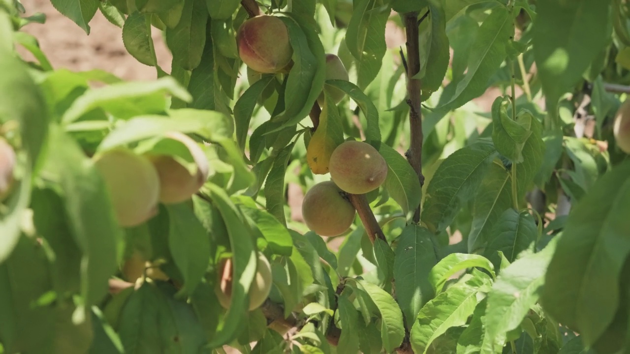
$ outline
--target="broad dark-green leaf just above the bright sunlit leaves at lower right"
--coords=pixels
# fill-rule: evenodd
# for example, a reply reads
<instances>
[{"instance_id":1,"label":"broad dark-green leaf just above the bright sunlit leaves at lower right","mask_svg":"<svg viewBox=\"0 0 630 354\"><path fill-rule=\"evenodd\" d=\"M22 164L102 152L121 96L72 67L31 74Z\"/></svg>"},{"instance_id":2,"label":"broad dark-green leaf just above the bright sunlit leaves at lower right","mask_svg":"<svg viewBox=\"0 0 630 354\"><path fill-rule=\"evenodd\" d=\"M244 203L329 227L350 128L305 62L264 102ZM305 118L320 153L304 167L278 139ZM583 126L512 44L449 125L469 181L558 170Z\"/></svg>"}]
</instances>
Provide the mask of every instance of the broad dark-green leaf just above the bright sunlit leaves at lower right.
<instances>
[{"instance_id":1,"label":"broad dark-green leaf just above the bright sunlit leaves at lower right","mask_svg":"<svg viewBox=\"0 0 630 354\"><path fill-rule=\"evenodd\" d=\"M484 251L486 256L501 251L508 261L513 262L518 254L536 243L538 228L529 211L505 210L496 221Z\"/></svg>"}]
</instances>

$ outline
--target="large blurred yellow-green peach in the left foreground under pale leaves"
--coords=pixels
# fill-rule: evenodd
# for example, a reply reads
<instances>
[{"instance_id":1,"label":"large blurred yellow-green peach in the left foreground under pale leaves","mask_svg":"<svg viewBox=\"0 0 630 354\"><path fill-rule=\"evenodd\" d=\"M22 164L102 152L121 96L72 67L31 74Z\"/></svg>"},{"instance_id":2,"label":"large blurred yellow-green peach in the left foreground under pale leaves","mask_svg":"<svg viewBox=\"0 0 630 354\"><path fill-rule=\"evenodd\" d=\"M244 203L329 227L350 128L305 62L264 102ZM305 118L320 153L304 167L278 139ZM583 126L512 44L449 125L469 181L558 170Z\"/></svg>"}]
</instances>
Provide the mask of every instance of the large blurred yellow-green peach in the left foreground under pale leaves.
<instances>
[{"instance_id":1,"label":"large blurred yellow-green peach in the left foreground under pale leaves","mask_svg":"<svg viewBox=\"0 0 630 354\"><path fill-rule=\"evenodd\" d=\"M132 227L157 213L159 176L146 157L127 149L114 149L95 156L109 191L118 224Z\"/></svg>"}]
</instances>

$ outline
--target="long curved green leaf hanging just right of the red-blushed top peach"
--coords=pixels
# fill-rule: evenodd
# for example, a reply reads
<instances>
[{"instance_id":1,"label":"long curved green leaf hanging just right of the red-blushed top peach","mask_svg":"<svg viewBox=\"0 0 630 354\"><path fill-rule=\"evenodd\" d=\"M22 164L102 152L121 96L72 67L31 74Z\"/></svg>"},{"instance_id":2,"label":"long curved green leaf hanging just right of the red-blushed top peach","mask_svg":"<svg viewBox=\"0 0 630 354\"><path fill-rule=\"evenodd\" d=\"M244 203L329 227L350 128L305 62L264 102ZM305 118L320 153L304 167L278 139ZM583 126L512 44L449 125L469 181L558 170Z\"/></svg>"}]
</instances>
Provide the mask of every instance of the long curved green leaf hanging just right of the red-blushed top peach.
<instances>
[{"instance_id":1,"label":"long curved green leaf hanging just right of the red-blushed top peach","mask_svg":"<svg viewBox=\"0 0 630 354\"><path fill-rule=\"evenodd\" d=\"M277 130L297 124L306 117L324 89L326 79L324 48L314 28L302 25L307 20L297 14L279 18L289 30L294 66L289 71L284 91L285 110L272 118L274 123L283 122Z\"/></svg>"}]
</instances>

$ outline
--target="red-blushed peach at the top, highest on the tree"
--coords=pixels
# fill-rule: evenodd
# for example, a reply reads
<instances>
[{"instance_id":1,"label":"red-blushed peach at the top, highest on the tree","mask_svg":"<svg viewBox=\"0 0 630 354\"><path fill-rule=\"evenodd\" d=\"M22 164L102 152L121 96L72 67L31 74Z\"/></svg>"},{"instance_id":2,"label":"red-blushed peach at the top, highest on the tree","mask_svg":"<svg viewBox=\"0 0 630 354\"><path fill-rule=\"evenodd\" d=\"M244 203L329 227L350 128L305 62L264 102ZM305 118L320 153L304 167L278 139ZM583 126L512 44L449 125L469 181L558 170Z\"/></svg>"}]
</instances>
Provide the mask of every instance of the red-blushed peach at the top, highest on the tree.
<instances>
[{"instance_id":1,"label":"red-blushed peach at the top, highest on the tree","mask_svg":"<svg viewBox=\"0 0 630 354\"><path fill-rule=\"evenodd\" d=\"M275 16L260 15L244 21L236 35L239 57L258 72L278 72L291 61L289 30Z\"/></svg>"}]
</instances>

